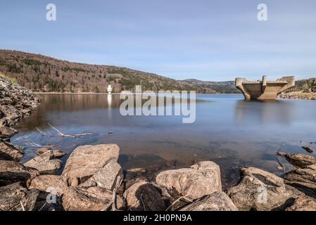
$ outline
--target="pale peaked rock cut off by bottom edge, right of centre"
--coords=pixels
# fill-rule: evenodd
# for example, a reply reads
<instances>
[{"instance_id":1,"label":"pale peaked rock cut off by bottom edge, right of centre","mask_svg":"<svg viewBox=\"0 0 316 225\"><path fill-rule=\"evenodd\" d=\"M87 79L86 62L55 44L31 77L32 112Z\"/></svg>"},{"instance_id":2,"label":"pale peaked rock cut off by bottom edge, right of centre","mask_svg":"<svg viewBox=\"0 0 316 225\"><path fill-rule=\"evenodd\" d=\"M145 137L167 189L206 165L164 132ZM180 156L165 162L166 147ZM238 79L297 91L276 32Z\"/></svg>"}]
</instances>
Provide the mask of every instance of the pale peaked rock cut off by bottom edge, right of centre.
<instances>
[{"instance_id":1,"label":"pale peaked rock cut off by bottom edge, right of centre","mask_svg":"<svg viewBox=\"0 0 316 225\"><path fill-rule=\"evenodd\" d=\"M216 191L196 200L180 211L238 211L238 208L224 192Z\"/></svg>"}]
</instances>

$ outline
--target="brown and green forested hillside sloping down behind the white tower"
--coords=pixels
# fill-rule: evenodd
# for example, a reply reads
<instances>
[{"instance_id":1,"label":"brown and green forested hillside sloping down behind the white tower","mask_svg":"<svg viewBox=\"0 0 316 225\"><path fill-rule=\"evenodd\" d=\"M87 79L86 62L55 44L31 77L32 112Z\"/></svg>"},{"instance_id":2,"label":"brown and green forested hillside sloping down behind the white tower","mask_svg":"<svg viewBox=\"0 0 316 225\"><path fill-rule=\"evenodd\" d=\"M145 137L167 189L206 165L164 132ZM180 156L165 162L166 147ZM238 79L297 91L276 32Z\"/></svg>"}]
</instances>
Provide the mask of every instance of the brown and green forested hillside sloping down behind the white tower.
<instances>
[{"instance_id":1,"label":"brown and green forested hillside sloping down behind the white tower","mask_svg":"<svg viewBox=\"0 0 316 225\"><path fill-rule=\"evenodd\" d=\"M119 68L110 65L70 63L47 56L20 51L0 50L0 72L16 79L18 84L39 92L106 92L108 84L114 92L142 90L195 90L198 93L216 93L200 87L159 75Z\"/></svg>"}]
</instances>

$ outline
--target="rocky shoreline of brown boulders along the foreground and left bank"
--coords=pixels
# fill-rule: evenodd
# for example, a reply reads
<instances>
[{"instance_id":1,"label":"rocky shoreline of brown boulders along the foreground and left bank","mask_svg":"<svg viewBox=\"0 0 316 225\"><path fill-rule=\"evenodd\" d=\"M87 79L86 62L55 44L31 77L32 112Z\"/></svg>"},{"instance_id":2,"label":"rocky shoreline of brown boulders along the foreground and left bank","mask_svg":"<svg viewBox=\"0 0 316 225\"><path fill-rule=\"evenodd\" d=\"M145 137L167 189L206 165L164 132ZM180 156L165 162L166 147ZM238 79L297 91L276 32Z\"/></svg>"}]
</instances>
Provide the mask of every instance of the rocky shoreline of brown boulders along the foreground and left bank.
<instances>
[{"instance_id":1,"label":"rocky shoreline of brown boulders along the foreground and left bank","mask_svg":"<svg viewBox=\"0 0 316 225\"><path fill-rule=\"evenodd\" d=\"M240 168L239 184L223 190L211 161L158 171L151 179L125 179L115 143L79 146L70 153L40 148L21 164L23 148L10 143L11 128L37 108L40 98L0 77L0 210L4 211L310 211L316 210L316 158L277 153L292 165L279 177ZM313 149L306 148L308 152ZM280 163L281 165L281 163Z\"/></svg>"}]
</instances>

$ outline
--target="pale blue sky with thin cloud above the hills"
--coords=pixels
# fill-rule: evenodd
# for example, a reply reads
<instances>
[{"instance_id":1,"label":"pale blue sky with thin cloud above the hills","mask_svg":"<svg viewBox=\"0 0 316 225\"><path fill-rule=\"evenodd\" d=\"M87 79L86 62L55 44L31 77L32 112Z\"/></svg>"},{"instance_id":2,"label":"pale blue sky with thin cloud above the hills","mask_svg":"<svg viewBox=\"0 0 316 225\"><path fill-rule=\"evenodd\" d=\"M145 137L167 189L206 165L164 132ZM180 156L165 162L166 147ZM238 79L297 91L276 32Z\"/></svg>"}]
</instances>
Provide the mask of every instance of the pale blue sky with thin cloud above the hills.
<instances>
[{"instance_id":1,"label":"pale blue sky with thin cloud above the hills","mask_svg":"<svg viewBox=\"0 0 316 225\"><path fill-rule=\"evenodd\" d=\"M316 77L315 0L0 0L0 27L0 49L174 79Z\"/></svg>"}]
</instances>

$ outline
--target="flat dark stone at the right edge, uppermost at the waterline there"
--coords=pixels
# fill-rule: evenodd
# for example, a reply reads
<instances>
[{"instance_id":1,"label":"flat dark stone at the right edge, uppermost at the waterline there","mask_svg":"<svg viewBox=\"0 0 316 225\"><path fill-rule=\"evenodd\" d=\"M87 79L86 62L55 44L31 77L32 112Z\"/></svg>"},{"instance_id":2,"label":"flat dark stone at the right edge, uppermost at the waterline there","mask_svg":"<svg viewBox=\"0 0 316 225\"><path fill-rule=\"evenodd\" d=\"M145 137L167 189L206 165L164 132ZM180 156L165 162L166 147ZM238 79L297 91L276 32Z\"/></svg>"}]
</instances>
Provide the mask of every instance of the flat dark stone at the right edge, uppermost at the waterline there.
<instances>
[{"instance_id":1,"label":"flat dark stone at the right edge, uppermost at the waterline there","mask_svg":"<svg viewBox=\"0 0 316 225\"><path fill-rule=\"evenodd\" d=\"M277 153L277 155L286 158L286 160L295 167L305 167L316 163L316 158L311 155L282 152Z\"/></svg>"}]
</instances>

